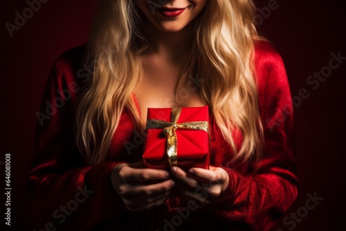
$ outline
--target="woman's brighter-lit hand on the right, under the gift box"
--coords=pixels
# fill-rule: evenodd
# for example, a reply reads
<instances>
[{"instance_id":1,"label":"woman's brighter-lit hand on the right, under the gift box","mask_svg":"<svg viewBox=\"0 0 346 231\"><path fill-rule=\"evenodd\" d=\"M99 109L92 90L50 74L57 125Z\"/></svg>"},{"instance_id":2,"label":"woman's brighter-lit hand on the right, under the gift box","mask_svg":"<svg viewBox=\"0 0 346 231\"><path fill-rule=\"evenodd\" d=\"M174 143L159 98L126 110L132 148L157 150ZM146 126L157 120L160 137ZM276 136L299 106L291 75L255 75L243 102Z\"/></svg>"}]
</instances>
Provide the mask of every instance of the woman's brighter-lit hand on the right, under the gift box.
<instances>
[{"instance_id":1,"label":"woman's brighter-lit hand on the right, under the gift box","mask_svg":"<svg viewBox=\"0 0 346 231\"><path fill-rule=\"evenodd\" d=\"M199 206L207 205L228 187L228 174L221 167L210 166L209 170L193 167L187 173L174 166L171 168L171 172L176 177L176 187L183 196L196 201ZM201 181L191 176L197 177Z\"/></svg>"}]
</instances>

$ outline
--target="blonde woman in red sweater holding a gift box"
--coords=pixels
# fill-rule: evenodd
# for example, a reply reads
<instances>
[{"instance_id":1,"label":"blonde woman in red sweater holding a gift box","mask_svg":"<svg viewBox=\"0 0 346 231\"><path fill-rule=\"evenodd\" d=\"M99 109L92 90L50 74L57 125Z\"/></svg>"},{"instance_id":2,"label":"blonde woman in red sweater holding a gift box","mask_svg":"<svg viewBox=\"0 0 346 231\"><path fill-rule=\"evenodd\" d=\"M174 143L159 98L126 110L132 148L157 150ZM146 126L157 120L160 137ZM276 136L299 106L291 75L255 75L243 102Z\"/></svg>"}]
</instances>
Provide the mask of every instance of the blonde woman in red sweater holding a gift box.
<instances>
[{"instance_id":1,"label":"blonde woman in red sweater holding a gift box","mask_svg":"<svg viewBox=\"0 0 346 231\"><path fill-rule=\"evenodd\" d=\"M46 87L30 172L37 228L271 228L297 196L293 110L253 17L248 0L103 1L88 46L57 59ZM147 108L205 105L210 169L145 168Z\"/></svg>"}]
</instances>

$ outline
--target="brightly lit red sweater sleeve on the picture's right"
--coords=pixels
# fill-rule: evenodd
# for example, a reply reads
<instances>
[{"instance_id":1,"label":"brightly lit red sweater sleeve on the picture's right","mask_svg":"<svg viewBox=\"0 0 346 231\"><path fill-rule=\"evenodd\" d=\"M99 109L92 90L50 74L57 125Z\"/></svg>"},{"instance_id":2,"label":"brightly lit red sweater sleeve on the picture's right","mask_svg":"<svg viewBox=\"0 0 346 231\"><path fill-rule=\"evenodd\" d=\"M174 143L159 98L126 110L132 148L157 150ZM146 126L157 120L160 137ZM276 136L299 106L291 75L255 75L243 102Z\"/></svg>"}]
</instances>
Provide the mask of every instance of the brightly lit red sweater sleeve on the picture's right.
<instances>
[{"instance_id":1,"label":"brightly lit red sweater sleeve on the picture's right","mask_svg":"<svg viewBox=\"0 0 346 231\"><path fill-rule=\"evenodd\" d=\"M293 156L293 107L280 55L268 44L255 50L260 114L265 149L257 172L239 174L223 167L229 185L212 202L212 213L226 225L268 230L289 209L298 194Z\"/></svg>"}]
</instances>

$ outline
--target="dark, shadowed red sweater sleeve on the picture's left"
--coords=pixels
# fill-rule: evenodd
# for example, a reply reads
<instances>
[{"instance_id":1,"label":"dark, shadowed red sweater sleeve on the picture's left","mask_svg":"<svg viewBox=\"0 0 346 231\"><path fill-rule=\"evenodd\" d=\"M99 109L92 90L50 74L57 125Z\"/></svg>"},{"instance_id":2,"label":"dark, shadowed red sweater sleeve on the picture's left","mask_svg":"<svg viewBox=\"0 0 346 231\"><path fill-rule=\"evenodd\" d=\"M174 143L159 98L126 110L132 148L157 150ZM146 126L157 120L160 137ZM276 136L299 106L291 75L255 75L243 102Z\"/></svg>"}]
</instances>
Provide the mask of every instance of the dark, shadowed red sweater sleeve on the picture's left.
<instances>
[{"instance_id":1,"label":"dark, shadowed red sweater sleeve on the picture's left","mask_svg":"<svg viewBox=\"0 0 346 231\"><path fill-rule=\"evenodd\" d=\"M111 170L120 162L87 166L75 145L76 96L88 77L78 65L82 59L80 49L57 59L37 112L28 188L37 230L86 230L127 212L109 179Z\"/></svg>"}]
</instances>

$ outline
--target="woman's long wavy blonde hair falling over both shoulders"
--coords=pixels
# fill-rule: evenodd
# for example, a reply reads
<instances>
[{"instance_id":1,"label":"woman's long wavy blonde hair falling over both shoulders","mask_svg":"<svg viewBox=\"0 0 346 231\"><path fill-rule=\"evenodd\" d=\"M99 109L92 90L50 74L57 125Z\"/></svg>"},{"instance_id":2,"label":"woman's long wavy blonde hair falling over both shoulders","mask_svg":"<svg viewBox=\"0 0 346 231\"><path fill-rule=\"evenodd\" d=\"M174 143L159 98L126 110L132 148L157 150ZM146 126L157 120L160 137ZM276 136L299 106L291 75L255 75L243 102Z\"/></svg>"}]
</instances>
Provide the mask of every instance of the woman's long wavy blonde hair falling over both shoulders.
<instances>
[{"instance_id":1,"label":"woman's long wavy blonde hair falling over both shoulders","mask_svg":"<svg viewBox=\"0 0 346 231\"><path fill-rule=\"evenodd\" d=\"M76 111L78 147L91 165L107 156L113 133L125 107L138 131L143 131L131 93L143 73L138 54L145 49L145 33L134 1L105 0L88 44L93 77ZM194 67L201 99L209 105L234 162L255 160L263 140L253 55L257 36L251 0L212 0L194 21L195 42L177 85ZM235 147L232 133L239 127L242 147Z\"/></svg>"}]
</instances>

